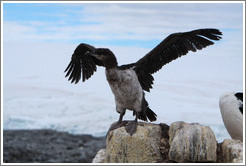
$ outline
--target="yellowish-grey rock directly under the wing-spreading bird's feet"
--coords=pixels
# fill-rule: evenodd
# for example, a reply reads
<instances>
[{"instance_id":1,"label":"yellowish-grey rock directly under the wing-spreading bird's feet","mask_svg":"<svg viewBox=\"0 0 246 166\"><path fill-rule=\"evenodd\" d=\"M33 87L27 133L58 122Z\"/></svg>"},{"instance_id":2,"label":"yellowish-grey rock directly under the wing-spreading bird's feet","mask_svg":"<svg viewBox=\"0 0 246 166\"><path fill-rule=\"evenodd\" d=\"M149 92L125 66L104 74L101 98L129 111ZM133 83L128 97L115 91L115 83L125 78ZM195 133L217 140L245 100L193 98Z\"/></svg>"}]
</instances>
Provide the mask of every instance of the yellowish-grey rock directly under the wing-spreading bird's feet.
<instances>
[{"instance_id":1,"label":"yellowish-grey rock directly under the wing-spreading bird's feet","mask_svg":"<svg viewBox=\"0 0 246 166\"><path fill-rule=\"evenodd\" d=\"M132 136L124 127L111 131L106 139L107 163L162 162L160 152L162 129L158 124L138 123Z\"/></svg>"}]
</instances>

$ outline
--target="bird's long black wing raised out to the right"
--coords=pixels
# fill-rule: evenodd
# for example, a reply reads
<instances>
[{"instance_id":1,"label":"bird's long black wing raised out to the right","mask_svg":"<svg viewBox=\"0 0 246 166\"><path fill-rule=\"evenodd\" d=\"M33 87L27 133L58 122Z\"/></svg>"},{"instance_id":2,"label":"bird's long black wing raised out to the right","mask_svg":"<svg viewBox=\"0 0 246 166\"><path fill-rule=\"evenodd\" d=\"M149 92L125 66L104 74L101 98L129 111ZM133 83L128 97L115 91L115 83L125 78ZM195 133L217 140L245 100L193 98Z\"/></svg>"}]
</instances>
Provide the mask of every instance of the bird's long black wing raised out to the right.
<instances>
[{"instance_id":1,"label":"bird's long black wing raised out to the right","mask_svg":"<svg viewBox=\"0 0 246 166\"><path fill-rule=\"evenodd\" d=\"M144 90L149 91L154 80L151 74L172 60L186 55L189 51L195 52L213 45L212 40L220 40L221 35L222 33L217 29L198 29L169 35L153 50L134 63L141 86Z\"/></svg>"}]
</instances>

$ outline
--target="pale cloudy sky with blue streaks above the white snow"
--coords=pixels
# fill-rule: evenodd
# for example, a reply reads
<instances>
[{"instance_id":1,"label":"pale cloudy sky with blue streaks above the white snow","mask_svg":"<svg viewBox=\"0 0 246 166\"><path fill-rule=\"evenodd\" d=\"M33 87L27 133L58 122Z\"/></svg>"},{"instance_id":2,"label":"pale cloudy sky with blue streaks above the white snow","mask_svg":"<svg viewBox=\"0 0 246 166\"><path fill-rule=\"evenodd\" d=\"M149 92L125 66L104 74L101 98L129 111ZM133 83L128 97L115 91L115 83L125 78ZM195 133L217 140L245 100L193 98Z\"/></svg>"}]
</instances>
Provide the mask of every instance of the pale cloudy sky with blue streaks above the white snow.
<instances>
[{"instance_id":1,"label":"pale cloudy sky with blue streaks above the white snow","mask_svg":"<svg viewBox=\"0 0 246 166\"><path fill-rule=\"evenodd\" d=\"M242 3L4 3L3 40L153 48L171 33L218 28L241 47ZM228 44L228 46L229 46Z\"/></svg>"}]
</instances>

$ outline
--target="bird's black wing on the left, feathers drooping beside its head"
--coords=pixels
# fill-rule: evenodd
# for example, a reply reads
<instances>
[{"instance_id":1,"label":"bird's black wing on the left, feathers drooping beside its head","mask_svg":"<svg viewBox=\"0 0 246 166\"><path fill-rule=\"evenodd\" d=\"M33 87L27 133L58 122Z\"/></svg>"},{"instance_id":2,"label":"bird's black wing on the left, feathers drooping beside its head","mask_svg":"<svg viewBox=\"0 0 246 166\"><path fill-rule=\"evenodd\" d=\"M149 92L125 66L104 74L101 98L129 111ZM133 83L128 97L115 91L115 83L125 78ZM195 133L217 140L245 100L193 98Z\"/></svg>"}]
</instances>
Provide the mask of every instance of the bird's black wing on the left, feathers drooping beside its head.
<instances>
[{"instance_id":1,"label":"bird's black wing on the left, feathers drooping beside its head","mask_svg":"<svg viewBox=\"0 0 246 166\"><path fill-rule=\"evenodd\" d=\"M71 83L78 83L81 79L81 74L83 76L82 81L84 82L97 70L96 65L103 66L102 62L90 55L95 49L95 47L89 44L81 43L74 50L71 61L64 71L67 72L65 77L69 77L68 80L71 80Z\"/></svg>"}]
</instances>

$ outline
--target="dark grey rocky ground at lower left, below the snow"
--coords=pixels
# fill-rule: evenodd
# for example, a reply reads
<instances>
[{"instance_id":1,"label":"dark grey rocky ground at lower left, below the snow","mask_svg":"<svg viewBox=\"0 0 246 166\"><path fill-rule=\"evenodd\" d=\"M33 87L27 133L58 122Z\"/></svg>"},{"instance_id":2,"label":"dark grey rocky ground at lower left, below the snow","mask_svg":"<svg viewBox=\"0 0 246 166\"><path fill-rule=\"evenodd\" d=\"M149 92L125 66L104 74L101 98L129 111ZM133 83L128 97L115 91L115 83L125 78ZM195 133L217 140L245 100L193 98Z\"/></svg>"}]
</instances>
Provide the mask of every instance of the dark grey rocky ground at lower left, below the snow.
<instances>
[{"instance_id":1,"label":"dark grey rocky ground at lower left, below the snow","mask_svg":"<svg viewBox=\"0 0 246 166\"><path fill-rule=\"evenodd\" d=\"M106 137L54 130L4 130L4 163L91 163Z\"/></svg>"}]
</instances>

